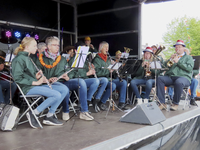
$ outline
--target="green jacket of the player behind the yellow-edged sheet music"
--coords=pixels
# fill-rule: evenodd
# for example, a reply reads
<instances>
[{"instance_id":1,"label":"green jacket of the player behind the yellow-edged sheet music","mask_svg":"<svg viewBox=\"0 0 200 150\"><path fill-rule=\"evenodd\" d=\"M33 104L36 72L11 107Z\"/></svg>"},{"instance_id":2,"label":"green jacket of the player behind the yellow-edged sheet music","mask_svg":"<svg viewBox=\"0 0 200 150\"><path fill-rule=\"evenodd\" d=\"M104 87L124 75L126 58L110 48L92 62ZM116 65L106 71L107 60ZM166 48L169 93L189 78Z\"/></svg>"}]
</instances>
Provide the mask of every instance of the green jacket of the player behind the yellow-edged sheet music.
<instances>
[{"instance_id":1,"label":"green jacket of the player behind the yellow-edged sheet music","mask_svg":"<svg viewBox=\"0 0 200 150\"><path fill-rule=\"evenodd\" d=\"M69 66L72 66L72 63L74 62L74 57L72 57L70 60L69 60ZM85 61L85 64L83 66L83 68L79 68L79 69L74 69L73 71L71 71L69 73L69 78L83 78L83 79L87 79L89 78L86 73L89 71L89 68L88 68L88 61L86 59Z\"/></svg>"}]
</instances>

